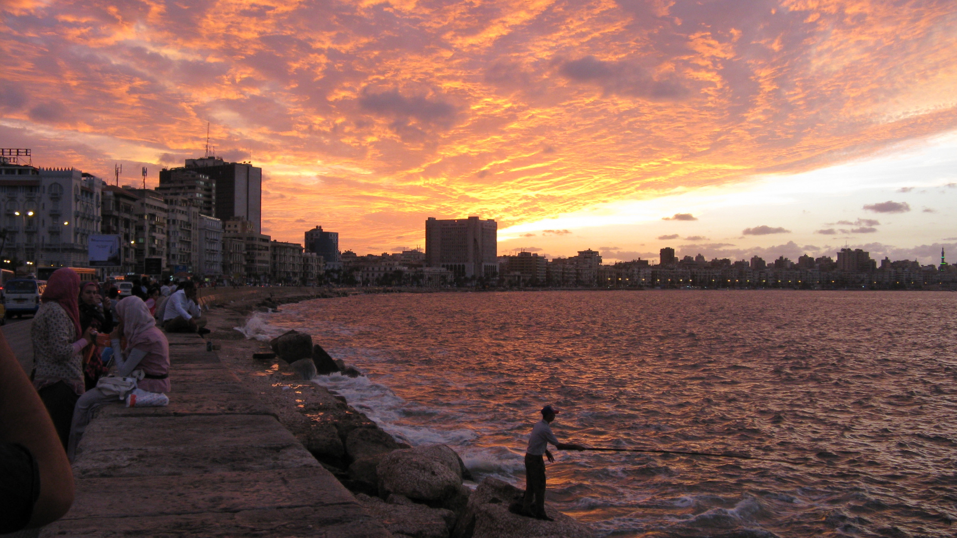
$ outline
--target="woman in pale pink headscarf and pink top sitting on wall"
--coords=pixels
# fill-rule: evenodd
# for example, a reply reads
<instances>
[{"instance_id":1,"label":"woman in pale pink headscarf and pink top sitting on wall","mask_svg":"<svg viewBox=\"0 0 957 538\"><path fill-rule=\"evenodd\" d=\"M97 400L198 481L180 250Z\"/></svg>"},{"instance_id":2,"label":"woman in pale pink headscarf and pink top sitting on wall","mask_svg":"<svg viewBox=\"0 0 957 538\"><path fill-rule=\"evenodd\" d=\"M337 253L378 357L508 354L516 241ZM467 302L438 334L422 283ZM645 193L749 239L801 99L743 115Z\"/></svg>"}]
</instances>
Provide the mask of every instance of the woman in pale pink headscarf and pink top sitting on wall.
<instances>
[{"instance_id":1,"label":"woman in pale pink headscarf and pink top sitting on wall","mask_svg":"<svg viewBox=\"0 0 957 538\"><path fill-rule=\"evenodd\" d=\"M143 377L137 382L137 389L145 392L169 392L169 343L163 331L156 326L156 320L142 299L130 296L117 303L119 320L110 334L114 349L122 352L114 355L116 374L120 377ZM121 347L121 339L126 342ZM93 417L93 411L110 401L119 401L116 394L105 394L100 389L87 391L80 396L73 413L70 442L67 456L74 460L80 437Z\"/></svg>"}]
</instances>

